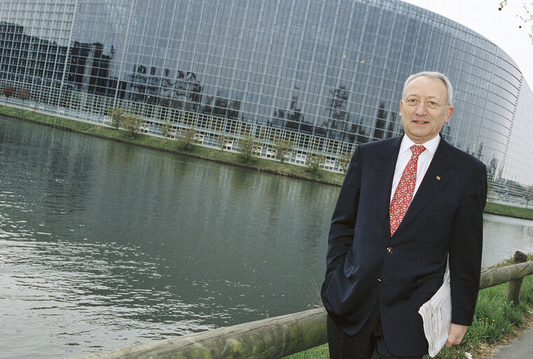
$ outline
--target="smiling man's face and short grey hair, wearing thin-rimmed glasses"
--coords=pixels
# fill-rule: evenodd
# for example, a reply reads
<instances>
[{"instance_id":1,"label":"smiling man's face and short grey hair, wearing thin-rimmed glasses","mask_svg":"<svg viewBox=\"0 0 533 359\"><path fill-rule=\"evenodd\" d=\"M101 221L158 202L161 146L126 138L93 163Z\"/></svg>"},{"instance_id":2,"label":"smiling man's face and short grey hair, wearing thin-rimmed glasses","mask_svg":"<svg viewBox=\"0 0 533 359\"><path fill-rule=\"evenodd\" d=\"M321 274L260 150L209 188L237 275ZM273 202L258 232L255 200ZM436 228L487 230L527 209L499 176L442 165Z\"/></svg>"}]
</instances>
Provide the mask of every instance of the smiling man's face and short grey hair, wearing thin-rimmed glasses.
<instances>
[{"instance_id":1,"label":"smiling man's face and short grey hair, wearing thin-rimmed glasses","mask_svg":"<svg viewBox=\"0 0 533 359\"><path fill-rule=\"evenodd\" d=\"M418 104L408 104L405 99L420 100ZM426 103L436 102L441 106L427 107ZM446 85L440 79L420 76L406 86L404 99L400 101L401 126L406 135L417 144L422 144L436 137L444 123L450 120L453 107L448 102Z\"/></svg>"}]
</instances>

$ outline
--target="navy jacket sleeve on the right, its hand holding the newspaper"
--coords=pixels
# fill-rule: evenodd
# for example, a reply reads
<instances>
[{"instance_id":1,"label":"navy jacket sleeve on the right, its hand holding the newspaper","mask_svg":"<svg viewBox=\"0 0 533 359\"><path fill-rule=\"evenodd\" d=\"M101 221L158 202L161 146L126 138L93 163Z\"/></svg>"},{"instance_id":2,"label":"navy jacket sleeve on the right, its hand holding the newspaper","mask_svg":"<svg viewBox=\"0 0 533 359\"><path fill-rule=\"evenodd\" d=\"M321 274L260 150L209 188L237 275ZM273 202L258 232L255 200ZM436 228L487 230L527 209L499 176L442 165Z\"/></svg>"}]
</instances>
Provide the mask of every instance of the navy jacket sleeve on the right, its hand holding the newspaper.
<instances>
[{"instance_id":1,"label":"navy jacket sleeve on the right, its hand holding the newspaper","mask_svg":"<svg viewBox=\"0 0 533 359\"><path fill-rule=\"evenodd\" d=\"M481 163L459 203L450 238L452 323L458 325L471 325L476 308L486 201L487 168Z\"/></svg>"}]
</instances>

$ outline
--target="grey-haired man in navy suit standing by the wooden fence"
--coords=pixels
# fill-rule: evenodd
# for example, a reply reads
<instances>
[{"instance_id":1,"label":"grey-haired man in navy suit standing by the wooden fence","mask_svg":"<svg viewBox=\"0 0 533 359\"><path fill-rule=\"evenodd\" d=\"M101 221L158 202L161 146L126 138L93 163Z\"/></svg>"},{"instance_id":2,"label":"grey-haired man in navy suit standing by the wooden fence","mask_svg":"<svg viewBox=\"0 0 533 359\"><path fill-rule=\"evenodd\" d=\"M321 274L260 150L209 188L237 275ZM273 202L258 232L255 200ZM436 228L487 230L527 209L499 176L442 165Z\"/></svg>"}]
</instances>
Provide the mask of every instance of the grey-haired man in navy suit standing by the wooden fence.
<instances>
[{"instance_id":1,"label":"grey-haired man in navy suit standing by the wooden fence","mask_svg":"<svg viewBox=\"0 0 533 359\"><path fill-rule=\"evenodd\" d=\"M446 346L459 344L472 323L487 172L440 137L453 110L446 76L413 74L400 101L405 135L361 144L352 156L331 220L321 289L331 358L427 354L418 309L443 283L447 262Z\"/></svg>"}]
</instances>

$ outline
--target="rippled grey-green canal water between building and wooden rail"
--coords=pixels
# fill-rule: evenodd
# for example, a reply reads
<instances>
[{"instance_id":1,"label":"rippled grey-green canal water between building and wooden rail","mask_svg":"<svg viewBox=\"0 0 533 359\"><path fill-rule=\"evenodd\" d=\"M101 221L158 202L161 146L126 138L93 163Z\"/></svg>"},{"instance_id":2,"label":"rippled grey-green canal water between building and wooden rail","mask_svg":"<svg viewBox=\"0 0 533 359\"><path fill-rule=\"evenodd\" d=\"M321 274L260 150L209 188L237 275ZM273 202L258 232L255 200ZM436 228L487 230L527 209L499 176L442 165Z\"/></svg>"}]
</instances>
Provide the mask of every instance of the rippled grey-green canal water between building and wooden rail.
<instances>
[{"instance_id":1,"label":"rippled grey-green canal water between building and wooden rail","mask_svg":"<svg viewBox=\"0 0 533 359\"><path fill-rule=\"evenodd\" d=\"M0 356L311 309L338 191L0 117ZM515 250L533 222L486 215L483 265Z\"/></svg>"}]
</instances>

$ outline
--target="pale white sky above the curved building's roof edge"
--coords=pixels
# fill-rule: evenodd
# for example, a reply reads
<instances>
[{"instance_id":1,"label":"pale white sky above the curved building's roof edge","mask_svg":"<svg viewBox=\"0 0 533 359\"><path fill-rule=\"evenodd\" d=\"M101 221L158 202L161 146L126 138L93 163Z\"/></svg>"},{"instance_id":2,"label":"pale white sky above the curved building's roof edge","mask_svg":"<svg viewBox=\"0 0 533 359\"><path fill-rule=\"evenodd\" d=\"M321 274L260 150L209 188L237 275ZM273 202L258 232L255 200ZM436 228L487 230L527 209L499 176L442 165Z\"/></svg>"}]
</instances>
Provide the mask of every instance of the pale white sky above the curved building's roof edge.
<instances>
[{"instance_id":1,"label":"pale white sky above the curved building's roof edge","mask_svg":"<svg viewBox=\"0 0 533 359\"><path fill-rule=\"evenodd\" d=\"M529 88L533 89L533 42L528 36L532 32L532 22L525 24L518 17L525 15L523 0L508 0L501 11L498 11L499 0L403 1L457 21L497 44L516 62Z\"/></svg>"}]
</instances>

